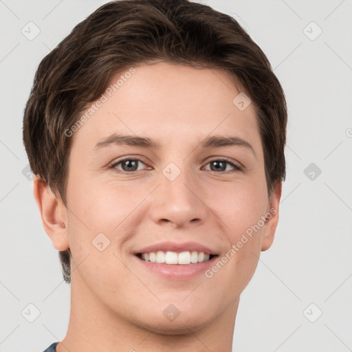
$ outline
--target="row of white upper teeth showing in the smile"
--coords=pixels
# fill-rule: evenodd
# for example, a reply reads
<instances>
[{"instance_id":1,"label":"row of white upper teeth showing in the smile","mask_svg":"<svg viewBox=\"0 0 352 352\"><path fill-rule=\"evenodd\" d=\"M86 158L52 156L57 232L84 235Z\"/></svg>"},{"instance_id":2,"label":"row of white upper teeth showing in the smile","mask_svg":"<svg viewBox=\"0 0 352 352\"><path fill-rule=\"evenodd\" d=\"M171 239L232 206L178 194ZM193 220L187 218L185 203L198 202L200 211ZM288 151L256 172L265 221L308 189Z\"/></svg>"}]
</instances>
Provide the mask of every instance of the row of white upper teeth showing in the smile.
<instances>
[{"instance_id":1,"label":"row of white upper teeth showing in the smile","mask_svg":"<svg viewBox=\"0 0 352 352\"><path fill-rule=\"evenodd\" d=\"M204 252L163 252L159 250L157 252L143 253L142 259L144 261L150 261L151 263L166 263L166 264L179 264L188 265L190 263L201 263L208 261L210 254Z\"/></svg>"}]
</instances>

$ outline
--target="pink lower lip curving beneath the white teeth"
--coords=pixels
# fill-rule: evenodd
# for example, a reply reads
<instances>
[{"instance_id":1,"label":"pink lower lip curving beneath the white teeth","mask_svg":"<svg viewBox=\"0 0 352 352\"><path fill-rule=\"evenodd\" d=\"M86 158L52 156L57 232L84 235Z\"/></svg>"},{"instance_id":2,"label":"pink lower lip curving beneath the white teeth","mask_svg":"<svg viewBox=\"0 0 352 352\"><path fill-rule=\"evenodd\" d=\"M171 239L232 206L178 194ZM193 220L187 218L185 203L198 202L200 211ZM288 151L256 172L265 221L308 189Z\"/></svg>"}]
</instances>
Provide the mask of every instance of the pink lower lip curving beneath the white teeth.
<instances>
[{"instance_id":1,"label":"pink lower lip curving beneath the white teeth","mask_svg":"<svg viewBox=\"0 0 352 352\"><path fill-rule=\"evenodd\" d=\"M201 274L204 274L206 270L214 265L217 261L217 256L213 256L209 261L203 261L201 263L191 263L187 265L180 264L166 264L166 263L151 263L150 261L144 261L143 259L135 256L135 259L142 264L146 270L155 272L165 278L173 280L186 280L188 278L195 278Z\"/></svg>"}]
</instances>

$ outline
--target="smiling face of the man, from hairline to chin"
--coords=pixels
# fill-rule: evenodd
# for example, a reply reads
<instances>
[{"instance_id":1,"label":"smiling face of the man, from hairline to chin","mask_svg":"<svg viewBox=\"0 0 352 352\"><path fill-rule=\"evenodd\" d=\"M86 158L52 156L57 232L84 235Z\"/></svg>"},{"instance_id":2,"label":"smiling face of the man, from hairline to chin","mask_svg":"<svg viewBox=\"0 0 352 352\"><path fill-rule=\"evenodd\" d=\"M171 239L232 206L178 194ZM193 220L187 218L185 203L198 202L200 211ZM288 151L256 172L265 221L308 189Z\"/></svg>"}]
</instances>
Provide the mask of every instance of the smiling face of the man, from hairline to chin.
<instances>
[{"instance_id":1,"label":"smiling face of the man, from hairline to chin","mask_svg":"<svg viewBox=\"0 0 352 352\"><path fill-rule=\"evenodd\" d=\"M227 73L166 63L134 69L113 77L123 83L73 135L65 210L72 289L117 318L178 333L238 303L274 238L279 196L267 195L254 107L233 103L240 92ZM221 145L217 137L235 138ZM214 257L166 264L137 255L158 248L176 260L180 252Z\"/></svg>"}]
</instances>

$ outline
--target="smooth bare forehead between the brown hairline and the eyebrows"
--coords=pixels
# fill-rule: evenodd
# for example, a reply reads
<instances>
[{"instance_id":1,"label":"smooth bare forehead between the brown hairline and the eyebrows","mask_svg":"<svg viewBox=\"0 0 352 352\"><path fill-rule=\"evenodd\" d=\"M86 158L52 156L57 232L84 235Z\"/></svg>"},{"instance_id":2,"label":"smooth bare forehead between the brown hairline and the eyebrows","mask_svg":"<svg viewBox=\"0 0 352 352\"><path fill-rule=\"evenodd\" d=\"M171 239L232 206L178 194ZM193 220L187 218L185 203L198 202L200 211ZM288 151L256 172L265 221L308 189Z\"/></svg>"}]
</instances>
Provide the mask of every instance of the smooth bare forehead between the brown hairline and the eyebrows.
<instances>
[{"instance_id":1,"label":"smooth bare forehead between the brown hairline and the eyebrows","mask_svg":"<svg viewBox=\"0 0 352 352\"><path fill-rule=\"evenodd\" d=\"M159 144L199 142L221 134L236 135L259 148L254 107L238 109L233 100L239 93L223 70L168 63L126 69L111 78L74 143L89 144L93 150L111 133L150 137Z\"/></svg>"}]
</instances>

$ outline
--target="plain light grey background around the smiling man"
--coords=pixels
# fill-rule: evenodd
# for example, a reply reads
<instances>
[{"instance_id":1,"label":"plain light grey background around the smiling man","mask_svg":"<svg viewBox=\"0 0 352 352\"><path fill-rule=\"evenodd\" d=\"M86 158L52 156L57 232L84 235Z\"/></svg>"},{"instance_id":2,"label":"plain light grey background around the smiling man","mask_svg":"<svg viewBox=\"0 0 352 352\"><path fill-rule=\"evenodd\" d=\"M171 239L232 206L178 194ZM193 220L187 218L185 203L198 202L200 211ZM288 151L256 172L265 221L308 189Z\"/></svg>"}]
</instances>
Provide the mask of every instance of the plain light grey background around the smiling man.
<instances>
[{"instance_id":1,"label":"plain light grey background around the smiling man","mask_svg":"<svg viewBox=\"0 0 352 352\"><path fill-rule=\"evenodd\" d=\"M0 0L1 352L43 351L67 331L70 287L26 173L23 109L41 59L106 2ZM351 351L352 1L201 2L261 46L289 109L276 239L241 295L234 351Z\"/></svg>"}]
</instances>

